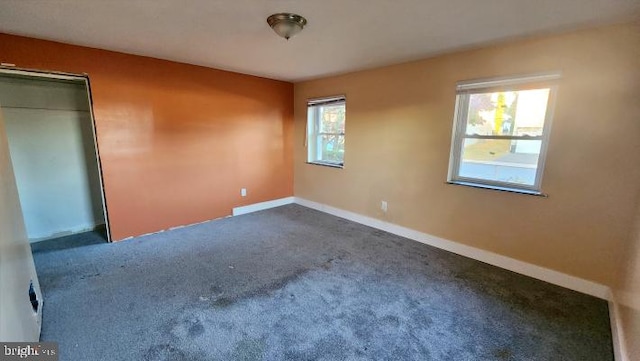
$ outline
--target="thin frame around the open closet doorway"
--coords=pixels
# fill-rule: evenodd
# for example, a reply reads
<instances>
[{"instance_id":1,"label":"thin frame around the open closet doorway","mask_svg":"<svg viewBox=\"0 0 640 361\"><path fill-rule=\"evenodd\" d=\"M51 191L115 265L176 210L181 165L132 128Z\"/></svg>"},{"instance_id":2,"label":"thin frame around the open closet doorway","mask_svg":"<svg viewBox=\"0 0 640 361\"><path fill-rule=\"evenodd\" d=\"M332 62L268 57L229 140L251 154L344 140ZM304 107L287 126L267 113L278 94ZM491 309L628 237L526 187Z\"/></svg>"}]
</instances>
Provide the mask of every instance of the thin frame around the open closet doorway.
<instances>
[{"instance_id":1,"label":"thin frame around the open closet doorway","mask_svg":"<svg viewBox=\"0 0 640 361\"><path fill-rule=\"evenodd\" d=\"M22 75L32 78L59 79L83 82L87 90L87 100L89 101L89 116L91 117L91 133L93 135L93 146L96 160L98 162L98 179L100 180L100 196L102 198L102 211L104 214L104 223L107 232L107 242L111 240L111 227L109 225L109 212L107 210L107 198L104 190L104 178L102 172L102 160L100 158L100 149L98 147L98 137L96 133L96 118L93 112L93 97L91 95L91 83L89 74L73 74L57 71L47 71L38 69L17 68L14 66L0 65L0 76L3 74Z\"/></svg>"}]
</instances>

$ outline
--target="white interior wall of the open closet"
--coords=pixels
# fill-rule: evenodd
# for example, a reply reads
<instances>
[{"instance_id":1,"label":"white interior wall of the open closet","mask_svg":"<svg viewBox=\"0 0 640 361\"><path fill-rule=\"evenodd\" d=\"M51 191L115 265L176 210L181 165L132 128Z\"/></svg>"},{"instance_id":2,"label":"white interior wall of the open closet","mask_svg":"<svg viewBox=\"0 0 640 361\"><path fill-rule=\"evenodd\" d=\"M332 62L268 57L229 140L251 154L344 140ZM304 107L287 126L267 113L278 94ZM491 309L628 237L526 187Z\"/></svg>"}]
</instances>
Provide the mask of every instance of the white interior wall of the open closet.
<instances>
[{"instance_id":1,"label":"white interior wall of the open closet","mask_svg":"<svg viewBox=\"0 0 640 361\"><path fill-rule=\"evenodd\" d=\"M1 77L0 106L29 239L104 224L84 83Z\"/></svg>"}]
</instances>

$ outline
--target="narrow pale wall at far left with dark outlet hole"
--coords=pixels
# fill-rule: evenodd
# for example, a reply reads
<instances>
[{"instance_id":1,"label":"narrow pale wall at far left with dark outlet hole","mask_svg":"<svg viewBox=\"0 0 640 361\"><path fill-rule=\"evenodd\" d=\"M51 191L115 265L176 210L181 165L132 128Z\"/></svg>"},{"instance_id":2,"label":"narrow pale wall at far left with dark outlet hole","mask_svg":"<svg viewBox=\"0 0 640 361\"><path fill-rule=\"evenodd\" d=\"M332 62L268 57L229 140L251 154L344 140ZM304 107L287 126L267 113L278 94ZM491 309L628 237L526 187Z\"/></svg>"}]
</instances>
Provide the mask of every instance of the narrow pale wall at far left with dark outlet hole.
<instances>
[{"instance_id":1,"label":"narrow pale wall at far left with dark outlet hole","mask_svg":"<svg viewBox=\"0 0 640 361\"><path fill-rule=\"evenodd\" d=\"M38 341L42 312L36 315L31 309L29 281L38 295L40 286L4 129L0 108L0 341Z\"/></svg>"}]
</instances>

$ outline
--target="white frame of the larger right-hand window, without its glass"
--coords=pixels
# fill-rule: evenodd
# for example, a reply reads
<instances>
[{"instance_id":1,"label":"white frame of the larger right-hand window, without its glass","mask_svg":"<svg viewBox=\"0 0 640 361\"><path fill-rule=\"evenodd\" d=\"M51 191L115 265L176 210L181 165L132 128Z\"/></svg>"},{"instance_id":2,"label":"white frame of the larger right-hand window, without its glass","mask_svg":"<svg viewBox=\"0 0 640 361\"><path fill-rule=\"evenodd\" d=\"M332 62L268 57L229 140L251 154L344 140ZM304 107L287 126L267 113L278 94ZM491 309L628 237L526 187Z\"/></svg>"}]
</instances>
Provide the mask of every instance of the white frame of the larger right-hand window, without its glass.
<instances>
[{"instance_id":1,"label":"white frame of the larger right-hand window, without its glass","mask_svg":"<svg viewBox=\"0 0 640 361\"><path fill-rule=\"evenodd\" d=\"M494 190L510 191L532 195L546 196L542 192L542 175L547 156L547 147L551 133L553 111L558 91L558 82L561 78L559 72L532 74L526 76L500 77L459 82L456 86L456 107L453 119L453 132L451 140L451 152L449 159L449 173L447 182L457 185L465 185ZM549 100L545 112L545 121L540 136L518 135L478 135L466 134L467 117L469 111L469 98L471 94L508 92L526 89L549 89ZM460 163L462 147L465 139L504 139L504 140L541 140L540 155L536 167L536 177L533 185L492 181L482 178L460 176Z\"/></svg>"}]
</instances>

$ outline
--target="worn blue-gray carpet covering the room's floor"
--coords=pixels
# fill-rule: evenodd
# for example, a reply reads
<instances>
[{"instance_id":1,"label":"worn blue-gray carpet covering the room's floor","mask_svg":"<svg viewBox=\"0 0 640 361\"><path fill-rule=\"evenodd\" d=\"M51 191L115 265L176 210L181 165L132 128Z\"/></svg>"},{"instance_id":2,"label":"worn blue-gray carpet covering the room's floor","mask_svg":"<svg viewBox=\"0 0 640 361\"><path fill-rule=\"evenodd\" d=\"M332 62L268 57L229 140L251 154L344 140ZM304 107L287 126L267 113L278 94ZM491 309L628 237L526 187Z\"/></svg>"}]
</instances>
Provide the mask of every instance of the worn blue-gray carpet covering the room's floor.
<instances>
[{"instance_id":1,"label":"worn blue-gray carpet covering the room's floor","mask_svg":"<svg viewBox=\"0 0 640 361\"><path fill-rule=\"evenodd\" d=\"M61 360L613 360L605 301L298 205L94 237L34 246Z\"/></svg>"}]
</instances>

